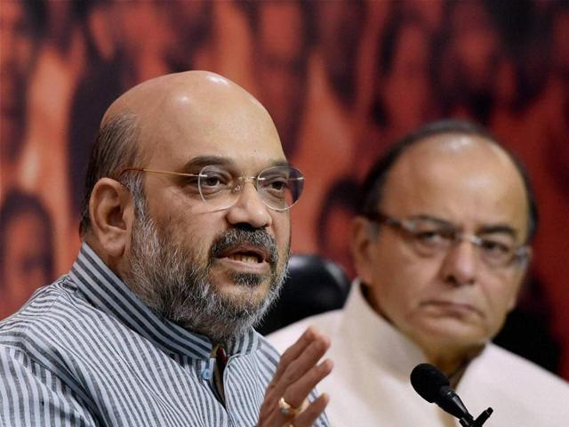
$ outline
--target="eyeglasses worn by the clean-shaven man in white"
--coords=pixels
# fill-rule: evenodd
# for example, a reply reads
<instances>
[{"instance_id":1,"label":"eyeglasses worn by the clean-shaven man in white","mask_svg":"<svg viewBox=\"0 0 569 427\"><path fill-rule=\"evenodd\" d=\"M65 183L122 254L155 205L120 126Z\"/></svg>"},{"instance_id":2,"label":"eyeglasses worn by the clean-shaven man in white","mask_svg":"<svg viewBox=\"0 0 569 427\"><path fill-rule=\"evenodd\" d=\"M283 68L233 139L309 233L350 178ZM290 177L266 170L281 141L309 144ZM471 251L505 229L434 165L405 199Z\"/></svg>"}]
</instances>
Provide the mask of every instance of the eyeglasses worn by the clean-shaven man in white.
<instances>
[{"instance_id":1,"label":"eyeglasses worn by the clean-shaven man in white","mask_svg":"<svg viewBox=\"0 0 569 427\"><path fill-rule=\"evenodd\" d=\"M365 214L365 217L403 232L415 252L422 256L445 254L451 247L468 241L477 247L482 262L488 267L500 269L513 264L525 266L532 253L529 246L516 246L513 237L507 233L495 232L489 233L492 236L477 236L463 233L452 224L429 219L398 220L379 212Z\"/></svg>"}]
</instances>

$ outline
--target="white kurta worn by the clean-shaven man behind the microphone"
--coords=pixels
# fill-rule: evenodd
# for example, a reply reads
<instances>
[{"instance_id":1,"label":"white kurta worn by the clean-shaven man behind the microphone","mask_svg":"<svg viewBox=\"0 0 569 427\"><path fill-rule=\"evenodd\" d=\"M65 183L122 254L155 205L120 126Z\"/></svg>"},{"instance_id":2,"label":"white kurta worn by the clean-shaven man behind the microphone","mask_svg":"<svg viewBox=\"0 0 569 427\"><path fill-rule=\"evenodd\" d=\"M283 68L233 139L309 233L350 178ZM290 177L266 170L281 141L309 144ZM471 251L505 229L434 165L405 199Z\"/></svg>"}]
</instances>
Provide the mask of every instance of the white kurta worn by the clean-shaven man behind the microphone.
<instances>
[{"instance_id":1,"label":"white kurta worn by the clean-shaven man behind the microphone","mask_svg":"<svg viewBox=\"0 0 569 427\"><path fill-rule=\"evenodd\" d=\"M268 340L283 351L310 325L332 340L326 357L333 373L318 386L330 395L332 425L460 425L413 390L409 375L425 362L421 350L372 310L357 282L343 310L303 319ZM493 407L485 427L569 426L569 384L492 343L470 362L456 392L475 417Z\"/></svg>"}]
</instances>

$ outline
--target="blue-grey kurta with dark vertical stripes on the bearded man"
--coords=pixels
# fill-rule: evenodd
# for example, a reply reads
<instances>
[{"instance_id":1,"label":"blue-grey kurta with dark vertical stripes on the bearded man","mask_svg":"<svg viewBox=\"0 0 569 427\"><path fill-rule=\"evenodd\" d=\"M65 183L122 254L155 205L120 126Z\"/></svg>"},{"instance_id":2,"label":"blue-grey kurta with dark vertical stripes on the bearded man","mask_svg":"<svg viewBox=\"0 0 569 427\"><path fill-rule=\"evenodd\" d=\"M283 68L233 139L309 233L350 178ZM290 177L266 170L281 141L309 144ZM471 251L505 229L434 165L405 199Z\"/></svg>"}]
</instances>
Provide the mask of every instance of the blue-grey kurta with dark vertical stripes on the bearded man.
<instances>
[{"instance_id":1,"label":"blue-grey kurta with dark vertical stripes on the bearded man","mask_svg":"<svg viewBox=\"0 0 569 427\"><path fill-rule=\"evenodd\" d=\"M253 330L227 353L223 404L212 342L158 318L84 244L0 322L0 425L256 425L278 354Z\"/></svg>"}]
</instances>

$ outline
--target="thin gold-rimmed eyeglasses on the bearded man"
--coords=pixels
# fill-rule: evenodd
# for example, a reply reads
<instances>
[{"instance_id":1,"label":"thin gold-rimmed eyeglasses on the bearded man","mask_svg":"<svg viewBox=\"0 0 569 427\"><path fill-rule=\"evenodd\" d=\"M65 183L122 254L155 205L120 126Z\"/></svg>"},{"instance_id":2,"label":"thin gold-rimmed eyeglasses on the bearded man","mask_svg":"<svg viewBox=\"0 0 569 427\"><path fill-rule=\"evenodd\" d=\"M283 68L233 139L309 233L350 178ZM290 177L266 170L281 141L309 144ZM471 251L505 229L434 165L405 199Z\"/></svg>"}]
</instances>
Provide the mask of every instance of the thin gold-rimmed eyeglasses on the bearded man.
<instances>
[{"instance_id":1,"label":"thin gold-rimmed eyeglasses on the bearded man","mask_svg":"<svg viewBox=\"0 0 569 427\"><path fill-rule=\"evenodd\" d=\"M128 171L165 173L183 179L182 187L189 196L201 199L214 210L228 209L236 204L239 193L246 182L254 182L260 199L275 211L290 209L301 197L304 176L293 166L272 166L263 169L257 176L234 176L220 165L204 166L199 173L156 171L143 167L127 167L119 177Z\"/></svg>"}]
</instances>

